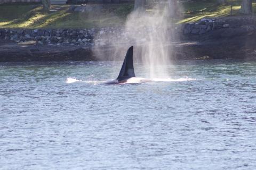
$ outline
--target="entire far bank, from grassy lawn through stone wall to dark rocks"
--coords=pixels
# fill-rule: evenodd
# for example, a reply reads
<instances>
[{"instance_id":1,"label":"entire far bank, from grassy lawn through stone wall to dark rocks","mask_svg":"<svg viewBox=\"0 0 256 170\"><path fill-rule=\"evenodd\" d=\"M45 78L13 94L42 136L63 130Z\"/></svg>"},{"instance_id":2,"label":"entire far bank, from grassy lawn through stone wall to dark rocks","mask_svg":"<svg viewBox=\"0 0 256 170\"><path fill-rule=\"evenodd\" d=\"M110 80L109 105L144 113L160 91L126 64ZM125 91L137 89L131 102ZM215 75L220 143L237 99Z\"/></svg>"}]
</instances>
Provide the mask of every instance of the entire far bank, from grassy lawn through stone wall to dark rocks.
<instances>
[{"instance_id":1,"label":"entire far bank, from grassy lawn through stone wall to dark rocks","mask_svg":"<svg viewBox=\"0 0 256 170\"><path fill-rule=\"evenodd\" d=\"M256 60L256 19L239 14L241 2L233 4L232 16L230 1L179 5L183 12L170 24L175 43L166 45L173 50L171 60ZM43 12L39 5L0 6L0 62L111 60L96 58L94 47L99 47L98 55L113 53L114 47L99 35L120 29L133 4L87 5L89 12L74 10L79 6L52 5L50 12ZM152 10L147 6L147 12Z\"/></svg>"}]
</instances>

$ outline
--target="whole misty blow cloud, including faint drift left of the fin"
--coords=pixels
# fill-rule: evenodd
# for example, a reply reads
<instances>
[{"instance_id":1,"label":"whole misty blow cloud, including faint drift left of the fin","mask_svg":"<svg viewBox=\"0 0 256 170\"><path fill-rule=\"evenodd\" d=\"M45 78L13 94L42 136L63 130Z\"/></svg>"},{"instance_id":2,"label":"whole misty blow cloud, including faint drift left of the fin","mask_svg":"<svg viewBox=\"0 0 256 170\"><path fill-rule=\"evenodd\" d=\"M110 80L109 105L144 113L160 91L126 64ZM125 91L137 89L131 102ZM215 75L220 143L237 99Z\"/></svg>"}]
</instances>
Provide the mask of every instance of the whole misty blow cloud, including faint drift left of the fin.
<instances>
[{"instance_id":1,"label":"whole misty blow cloud, including faint drift left of the fin","mask_svg":"<svg viewBox=\"0 0 256 170\"><path fill-rule=\"evenodd\" d=\"M99 34L96 39L113 49L109 60L123 61L127 48L134 46L134 61L140 60L146 65L148 78L168 78L173 39L170 10L170 5L156 4L151 11L133 11L121 30ZM106 60L108 55L102 55L101 49L95 45L94 53Z\"/></svg>"}]
</instances>

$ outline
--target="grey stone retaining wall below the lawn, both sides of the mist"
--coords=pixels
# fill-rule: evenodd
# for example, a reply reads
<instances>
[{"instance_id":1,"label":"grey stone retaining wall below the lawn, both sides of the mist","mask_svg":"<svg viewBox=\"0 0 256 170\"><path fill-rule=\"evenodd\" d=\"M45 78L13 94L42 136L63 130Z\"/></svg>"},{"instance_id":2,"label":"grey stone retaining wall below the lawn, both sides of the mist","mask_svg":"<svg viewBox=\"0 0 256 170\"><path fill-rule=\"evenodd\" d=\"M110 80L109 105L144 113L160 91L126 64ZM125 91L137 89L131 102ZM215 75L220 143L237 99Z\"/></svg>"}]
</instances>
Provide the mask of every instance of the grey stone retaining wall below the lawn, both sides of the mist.
<instances>
[{"instance_id":1,"label":"grey stone retaining wall below the lawn, both sides of the mist","mask_svg":"<svg viewBox=\"0 0 256 170\"><path fill-rule=\"evenodd\" d=\"M172 29L172 31L174 31L174 35L204 35L213 30L241 28L243 25L251 25L248 28L250 31L256 30L255 19L251 17L239 19L202 19L196 23L175 25L175 29ZM129 36L133 32L124 32L122 28L116 27L92 29L0 29L0 39L12 40L20 44L30 42L37 45L104 46L109 43L115 43L117 39L129 41ZM150 32L150 28L145 28L142 32ZM134 33L138 34L138 32ZM145 38L141 39L147 41Z\"/></svg>"}]
</instances>

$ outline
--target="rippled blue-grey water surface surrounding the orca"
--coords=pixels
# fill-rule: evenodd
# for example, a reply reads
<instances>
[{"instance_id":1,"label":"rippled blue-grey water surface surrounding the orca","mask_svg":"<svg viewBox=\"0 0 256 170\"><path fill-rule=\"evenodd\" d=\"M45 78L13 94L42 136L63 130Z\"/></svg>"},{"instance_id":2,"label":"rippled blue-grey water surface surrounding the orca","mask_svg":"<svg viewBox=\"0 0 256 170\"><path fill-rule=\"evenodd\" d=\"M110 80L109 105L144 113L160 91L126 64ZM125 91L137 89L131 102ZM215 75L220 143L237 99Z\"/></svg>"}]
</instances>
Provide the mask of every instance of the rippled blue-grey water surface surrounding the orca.
<instances>
[{"instance_id":1,"label":"rippled blue-grey water surface surrounding the orca","mask_svg":"<svg viewBox=\"0 0 256 170\"><path fill-rule=\"evenodd\" d=\"M1 64L0 169L256 169L255 62L121 64Z\"/></svg>"}]
</instances>

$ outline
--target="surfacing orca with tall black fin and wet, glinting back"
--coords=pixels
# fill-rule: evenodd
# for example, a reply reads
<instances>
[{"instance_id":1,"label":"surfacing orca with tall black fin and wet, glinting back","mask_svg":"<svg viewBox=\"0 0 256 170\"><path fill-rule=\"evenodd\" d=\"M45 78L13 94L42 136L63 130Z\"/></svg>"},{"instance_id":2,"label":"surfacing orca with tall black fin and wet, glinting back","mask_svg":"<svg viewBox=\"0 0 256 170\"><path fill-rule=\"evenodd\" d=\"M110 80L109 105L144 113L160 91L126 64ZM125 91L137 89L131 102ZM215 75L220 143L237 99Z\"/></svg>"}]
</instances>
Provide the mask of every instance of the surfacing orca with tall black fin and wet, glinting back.
<instances>
[{"instance_id":1,"label":"surfacing orca with tall black fin and wet, glinting back","mask_svg":"<svg viewBox=\"0 0 256 170\"><path fill-rule=\"evenodd\" d=\"M133 46L131 46L126 53L124 62L119 72L118 77L115 80L107 81L102 84L139 84L142 82L150 82L149 79L137 78L134 73L133 67Z\"/></svg>"}]
</instances>

